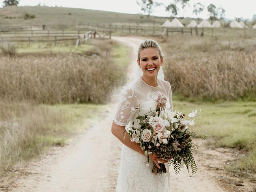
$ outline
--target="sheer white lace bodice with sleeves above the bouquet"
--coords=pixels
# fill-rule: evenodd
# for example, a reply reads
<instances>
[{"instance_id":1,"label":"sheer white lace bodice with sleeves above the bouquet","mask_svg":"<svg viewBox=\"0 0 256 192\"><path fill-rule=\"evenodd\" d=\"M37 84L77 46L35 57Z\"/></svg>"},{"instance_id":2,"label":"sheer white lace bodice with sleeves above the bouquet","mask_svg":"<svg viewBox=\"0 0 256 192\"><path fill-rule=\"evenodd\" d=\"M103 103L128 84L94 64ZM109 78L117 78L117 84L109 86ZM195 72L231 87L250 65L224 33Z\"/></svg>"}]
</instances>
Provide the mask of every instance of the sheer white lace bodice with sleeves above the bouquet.
<instances>
[{"instance_id":1,"label":"sheer white lace bodice with sleeves above the bouquet","mask_svg":"<svg viewBox=\"0 0 256 192\"><path fill-rule=\"evenodd\" d=\"M137 78L125 89L123 89L120 103L114 117L114 122L120 126L126 126L131 121L135 113L140 115L148 110L155 109L155 101L158 95L164 95L167 99L166 108L172 108L172 89L168 81L157 79L158 86L153 87ZM138 115L138 114L137 114ZM136 118L136 117L135 117Z\"/></svg>"}]
</instances>

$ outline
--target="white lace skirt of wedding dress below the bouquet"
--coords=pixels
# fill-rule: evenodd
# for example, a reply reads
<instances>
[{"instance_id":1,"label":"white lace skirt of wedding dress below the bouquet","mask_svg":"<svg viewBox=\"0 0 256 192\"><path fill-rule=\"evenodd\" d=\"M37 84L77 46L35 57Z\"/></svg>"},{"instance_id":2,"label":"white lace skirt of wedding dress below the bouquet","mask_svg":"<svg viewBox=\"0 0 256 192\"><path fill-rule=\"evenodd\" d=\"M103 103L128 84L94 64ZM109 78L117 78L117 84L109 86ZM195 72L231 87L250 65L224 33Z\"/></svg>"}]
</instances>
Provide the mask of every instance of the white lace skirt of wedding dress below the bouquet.
<instances>
[{"instance_id":1,"label":"white lace skirt of wedding dress below the bouquet","mask_svg":"<svg viewBox=\"0 0 256 192\"><path fill-rule=\"evenodd\" d=\"M123 145L116 192L168 192L167 174L151 172L154 162L146 166L145 156Z\"/></svg>"}]
</instances>

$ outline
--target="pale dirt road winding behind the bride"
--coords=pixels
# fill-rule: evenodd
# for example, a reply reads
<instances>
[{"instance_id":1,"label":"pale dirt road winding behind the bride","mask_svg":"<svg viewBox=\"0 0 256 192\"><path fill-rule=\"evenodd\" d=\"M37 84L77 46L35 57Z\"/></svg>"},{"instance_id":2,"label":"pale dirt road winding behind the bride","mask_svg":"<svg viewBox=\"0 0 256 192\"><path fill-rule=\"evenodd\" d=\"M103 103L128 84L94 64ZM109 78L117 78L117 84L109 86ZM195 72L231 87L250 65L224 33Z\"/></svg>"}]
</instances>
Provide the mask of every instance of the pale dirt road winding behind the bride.
<instances>
[{"instance_id":1,"label":"pale dirt road winding behind the bride","mask_svg":"<svg viewBox=\"0 0 256 192\"><path fill-rule=\"evenodd\" d=\"M131 47L129 81L133 79L136 49L140 39L113 37ZM118 101L118 94L113 101ZM110 131L117 103L110 104L103 121L80 134L66 147L53 148L39 162L33 162L15 181L14 192L114 192L120 163L121 142ZM202 152L204 151L204 153ZM226 192L216 183L216 170L222 170L223 151L202 147L196 154L198 173L191 175L184 169L176 176L171 169L174 192ZM230 158L230 154L227 155ZM218 167L217 167L218 166ZM209 170L210 169L210 170ZM212 169L212 171L211 171ZM1 189L0 189L1 191Z\"/></svg>"}]
</instances>

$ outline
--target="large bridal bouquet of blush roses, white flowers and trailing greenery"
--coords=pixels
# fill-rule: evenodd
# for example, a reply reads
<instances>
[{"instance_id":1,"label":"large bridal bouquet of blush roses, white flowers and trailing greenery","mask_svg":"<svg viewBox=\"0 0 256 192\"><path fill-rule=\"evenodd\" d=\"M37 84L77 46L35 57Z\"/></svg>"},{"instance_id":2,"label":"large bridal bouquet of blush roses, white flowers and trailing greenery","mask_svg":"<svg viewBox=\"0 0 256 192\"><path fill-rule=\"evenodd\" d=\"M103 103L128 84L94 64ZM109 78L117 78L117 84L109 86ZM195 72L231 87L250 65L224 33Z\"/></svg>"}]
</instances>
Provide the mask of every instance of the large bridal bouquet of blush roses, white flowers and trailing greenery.
<instances>
[{"instance_id":1,"label":"large bridal bouquet of blush roses, white flowers and trailing greenery","mask_svg":"<svg viewBox=\"0 0 256 192\"><path fill-rule=\"evenodd\" d=\"M165 103L166 98L159 95L156 110L136 117L139 119L138 127L130 127L125 132L129 134L132 142L139 143L141 149L145 150L147 165L149 165L149 154L156 153L159 158L168 161L169 166L173 164L176 174L184 164L187 170L191 168L194 174L197 166L193 154L198 145L193 142L192 138L199 137L202 140L208 138L208 136L197 136L195 132L189 130L189 126L195 123L197 109L188 115L188 119L184 119L185 114L182 112L165 109ZM159 166L161 168L155 165L152 172L166 173L165 165L161 163Z\"/></svg>"}]
</instances>

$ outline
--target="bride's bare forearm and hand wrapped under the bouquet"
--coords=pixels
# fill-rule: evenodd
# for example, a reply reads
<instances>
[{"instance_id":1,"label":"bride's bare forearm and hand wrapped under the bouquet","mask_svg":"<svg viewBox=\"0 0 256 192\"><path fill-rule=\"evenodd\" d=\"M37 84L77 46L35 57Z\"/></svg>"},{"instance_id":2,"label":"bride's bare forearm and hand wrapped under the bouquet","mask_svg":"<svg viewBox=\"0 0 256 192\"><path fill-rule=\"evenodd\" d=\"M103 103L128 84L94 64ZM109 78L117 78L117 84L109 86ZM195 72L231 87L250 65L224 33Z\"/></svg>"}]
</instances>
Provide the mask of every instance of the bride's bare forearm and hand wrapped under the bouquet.
<instances>
[{"instance_id":1,"label":"bride's bare forearm and hand wrapped under the bouquet","mask_svg":"<svg viewBox=\"0 0 256 192\"><path fill-rule=\"evenodd\" d=\"M111 132L112 134L114 134L114 136L116 136L124 145L126 145L127 147L137 151L138 153L145 155L145 151L143 151L140 148L140 144L136 143L136 142L131 142L130 140L130 136L127 133L127 135L124 137L123 133L125 131L125 126L120 126L120 125L116 125L116 123L114 123L114 121L112 122L112 127L111 127ZM153 160L153 162L155 162L155 164L157 165L158 168L160 168L159 164L157 163L157 161L163 162L163 163L167 163L167 161L164 161L160 158L157 157L157 155L155 153L151 153L149 154L149 158L151 160Z\"/></svg>"}]
</instances>

